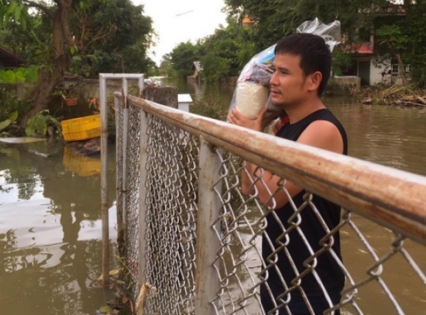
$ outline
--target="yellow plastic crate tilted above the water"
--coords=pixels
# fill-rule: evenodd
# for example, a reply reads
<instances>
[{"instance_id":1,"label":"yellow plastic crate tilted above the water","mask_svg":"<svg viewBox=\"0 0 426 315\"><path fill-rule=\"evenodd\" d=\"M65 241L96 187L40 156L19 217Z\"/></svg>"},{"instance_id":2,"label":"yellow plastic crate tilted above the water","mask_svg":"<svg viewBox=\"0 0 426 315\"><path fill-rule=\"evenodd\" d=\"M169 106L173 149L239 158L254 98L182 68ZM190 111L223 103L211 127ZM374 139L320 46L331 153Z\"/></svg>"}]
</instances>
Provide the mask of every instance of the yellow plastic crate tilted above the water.
<instances>
[{"instance_id":1,"label":"yellow plastic crate tilted above the water","mask_svg":"<svg viewBox=\"0 0 426 315\"><path fill-rule=\"evenodd\" d=\"M100 137L100 114L67 119L60 122L65 141Z\"/></svg>"}]
</instances>

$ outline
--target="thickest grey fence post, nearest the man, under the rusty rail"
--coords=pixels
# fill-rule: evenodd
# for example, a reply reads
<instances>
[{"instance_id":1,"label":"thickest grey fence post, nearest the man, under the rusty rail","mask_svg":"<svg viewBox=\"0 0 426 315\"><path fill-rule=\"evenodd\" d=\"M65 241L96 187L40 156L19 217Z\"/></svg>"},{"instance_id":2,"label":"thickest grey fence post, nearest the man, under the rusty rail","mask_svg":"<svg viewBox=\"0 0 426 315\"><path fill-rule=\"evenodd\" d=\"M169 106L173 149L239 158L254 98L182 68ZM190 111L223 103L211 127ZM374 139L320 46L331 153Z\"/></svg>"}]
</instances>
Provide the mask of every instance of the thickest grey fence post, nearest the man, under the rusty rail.
<instances>
[{"instance_id":1,"label":"thickest grey fence post, nearest the man, under the rusty rail","mask_svg":"<svg viewBox=\"0 0 426 315\"><path fill-rule=\"evenodd\" d=\"M200 141L194 314L210 315L215 314L212 301L220 284L216 269L213 266L221 247L221 242L216 235L216 231L220 231L220 226L216 226L216 231L214 231L212 224L221 209L221 200L214 191L214 188L221 191L221 183L218 183L221 161L214 152L213 145L202 137L200 137Z\"/></svg>"}]
</instances>

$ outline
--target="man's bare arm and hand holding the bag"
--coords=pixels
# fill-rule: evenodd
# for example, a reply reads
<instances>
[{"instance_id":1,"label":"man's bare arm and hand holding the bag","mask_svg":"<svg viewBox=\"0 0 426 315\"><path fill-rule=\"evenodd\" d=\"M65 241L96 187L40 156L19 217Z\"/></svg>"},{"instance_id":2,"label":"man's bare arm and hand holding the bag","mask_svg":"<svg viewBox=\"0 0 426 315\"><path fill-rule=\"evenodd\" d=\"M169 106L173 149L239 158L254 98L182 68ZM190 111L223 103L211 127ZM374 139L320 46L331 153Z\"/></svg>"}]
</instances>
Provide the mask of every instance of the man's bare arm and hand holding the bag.
<instances>
[{"instance_id":1,"label":"man's bare arm and hand holding the bag","mask_svg":"<svg viewBox=\"0 0 426 315\"><path fill-rule=\"evenodd\" d=\"M256 120L250 120L242 114L232 111L229 114L228 120L232 124L250 128L252 130L262 131L262 119L265 112L262 111ZM316 148L329 150L337 153L343 153L343 139L337 127L329 121L318 120L310 124L302 135L300 135L298 143L311 145ZM261 178L261 180L256 180ZM287 189L289 196L280 189L274 196L275 203L270 200L271 194L274 194L281 186L282 179L279 176L273 175L267 170L263 170L258 165L245 162L245 171L241 175L241 191L243 194L256 194L260 202L269 207L280 209L287 202L289 196L293 198L302 191L302 187L295 185L288 180L284 183L284 188Z\"/></svg>"}]
</instances>

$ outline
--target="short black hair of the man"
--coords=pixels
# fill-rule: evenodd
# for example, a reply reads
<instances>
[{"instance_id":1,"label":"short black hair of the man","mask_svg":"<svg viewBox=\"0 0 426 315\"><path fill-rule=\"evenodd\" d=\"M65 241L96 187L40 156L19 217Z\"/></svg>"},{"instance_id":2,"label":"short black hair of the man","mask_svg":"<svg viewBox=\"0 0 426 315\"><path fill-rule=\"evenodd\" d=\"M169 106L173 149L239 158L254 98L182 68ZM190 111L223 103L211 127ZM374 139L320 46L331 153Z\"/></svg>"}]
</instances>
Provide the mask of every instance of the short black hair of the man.
<instances>
[{"instance_id":1,"label":"short black hair of the man","mask_svg":"<svg viewBox=\"0 0 426 315\"><path fill-rule=\"evenodd\" d=\"M300 56L300 68L304 77L320 71L322 80L318 87L318 96L326 88L331 71L331 52L324 38L315 34L300 33L282 38L275 47L275 54Z\"/></svg>"}]
</instances>

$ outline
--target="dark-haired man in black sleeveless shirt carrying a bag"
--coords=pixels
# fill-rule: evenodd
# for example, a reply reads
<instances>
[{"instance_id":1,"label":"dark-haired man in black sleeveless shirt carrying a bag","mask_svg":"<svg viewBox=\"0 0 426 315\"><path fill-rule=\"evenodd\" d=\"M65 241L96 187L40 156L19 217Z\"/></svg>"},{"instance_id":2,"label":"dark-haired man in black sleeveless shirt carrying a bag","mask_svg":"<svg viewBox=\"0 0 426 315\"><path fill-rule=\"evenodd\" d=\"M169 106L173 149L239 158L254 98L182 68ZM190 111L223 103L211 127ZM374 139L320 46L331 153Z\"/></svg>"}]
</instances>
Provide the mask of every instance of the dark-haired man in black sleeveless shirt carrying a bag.
<instances>
[{"instance_id":1,"label":"dark-haired man in black sleeveless shirt carrying a bag","mask_svg":"<svg viewBox=\"0 0 426 315\"><path fill-rule=\"evenodd\" d=\"M321 100L330 68L330 49L322 37L293 34L278 42L269 82L270 96L272 104L285 110L288 117L287 124L276 135L347 154L345 130ZM266 125L265 113L266 110L262 110L257 119L249 120L234 108L228 121L262 131ZM260 287L262 307L266 314L323 314L339 303L344 287L339 233L328 234L325 241L322 240L339 224L340 207L314 195L312 202L295 215L305 201L306 191L287 180L284 188L293 200L292 205L288 195L280 189L280 177L256 168L253 163L245 163L246 172L241 178L243 193L253 194L255 185L258 198L266 204L270 194L279 191L274 196L275 215L267 215L262 237L265 266L261 277L266 280ZM259 176L262 183L255 182ZM271 206L271 202L267 205ZM317 256L313 258L315 253ZM339 314L339 310L334 314Z\"/></svg>"}]
</instances>

